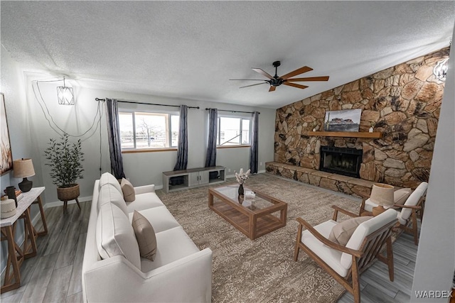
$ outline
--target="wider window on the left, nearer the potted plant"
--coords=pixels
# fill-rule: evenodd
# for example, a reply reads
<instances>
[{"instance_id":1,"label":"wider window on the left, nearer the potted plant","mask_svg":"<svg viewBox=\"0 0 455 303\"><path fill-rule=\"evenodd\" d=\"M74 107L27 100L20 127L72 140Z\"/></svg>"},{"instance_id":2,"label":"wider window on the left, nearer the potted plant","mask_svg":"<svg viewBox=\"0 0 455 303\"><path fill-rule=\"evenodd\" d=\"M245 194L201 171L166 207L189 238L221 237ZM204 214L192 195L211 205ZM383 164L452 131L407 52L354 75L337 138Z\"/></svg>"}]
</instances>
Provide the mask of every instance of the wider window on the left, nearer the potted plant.
<instances>
[{"instance_id":1,"label":"wider window on the left, nearer the potted plant","mask_svg":"<svg viewBox=\"0 0 455 303\"><path fill-rule=\"evenodd\" d=\"M119 112L122 150L177 147L178 122L173 114Z\"/></svg>"}]
</instances>

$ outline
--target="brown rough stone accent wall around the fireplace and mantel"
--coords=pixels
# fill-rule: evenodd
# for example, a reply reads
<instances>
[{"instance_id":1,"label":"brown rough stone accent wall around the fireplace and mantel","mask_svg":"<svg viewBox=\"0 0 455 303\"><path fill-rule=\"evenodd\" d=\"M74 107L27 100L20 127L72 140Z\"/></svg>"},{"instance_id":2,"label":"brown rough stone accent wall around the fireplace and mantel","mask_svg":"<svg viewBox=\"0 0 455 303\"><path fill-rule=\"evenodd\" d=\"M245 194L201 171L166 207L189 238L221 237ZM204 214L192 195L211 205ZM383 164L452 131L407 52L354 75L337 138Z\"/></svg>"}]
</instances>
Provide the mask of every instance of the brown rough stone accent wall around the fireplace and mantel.
<instances>
[{"instance_id":1,"label":"brown rough stone accent wall around the fireplace and mantel","mask_svg":"<svg viewBox=\"0 0 455 303\"><path fill-rule=\"evenodd\" d=\"M274 161L319 170L321 145L363 149L360 178L397 187L428 181L444 82L433 75L449 48L277 109ZM362 109L359 131L380 139L307 136L326 111Z\"/></svg>"}]
</instances>

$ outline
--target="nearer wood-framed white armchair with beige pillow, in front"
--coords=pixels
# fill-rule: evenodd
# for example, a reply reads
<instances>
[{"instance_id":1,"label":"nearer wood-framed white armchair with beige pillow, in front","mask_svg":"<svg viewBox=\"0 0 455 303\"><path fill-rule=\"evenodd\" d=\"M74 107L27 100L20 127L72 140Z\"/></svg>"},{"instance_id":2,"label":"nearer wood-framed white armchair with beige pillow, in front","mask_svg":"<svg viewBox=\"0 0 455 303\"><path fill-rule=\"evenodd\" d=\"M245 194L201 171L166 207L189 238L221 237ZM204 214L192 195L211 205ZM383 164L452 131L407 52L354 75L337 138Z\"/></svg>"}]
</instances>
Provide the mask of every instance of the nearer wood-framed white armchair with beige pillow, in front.
<instances>
[{"instance_id":1,"label":"nearer wood-framed white armchair with beige pillow, in front","mask_svg":"<svg viewBox=\"0 0 455 303\"><path fill-rule=\"evenodd\" d=\"M299 258L302 249L321 268L332 275L343 287L354 296L354 302L360 302L360 274L372 265L376 258L387 264L389 277L393 281L393 253L392 228L397 222L396 212L387 209L382 214L361 223L346 246L341 246L328 240L331 230L338 224L336 222L338 211L349 216L358 215L332 206L335 209L333 219L317 226L311 226L304 219L297 218L299 230L297 232L294 261ZM306 231L303 228L306 228ZM382 256L382 248L386 247L387 255Z\"/></svg>"}]
</instances>

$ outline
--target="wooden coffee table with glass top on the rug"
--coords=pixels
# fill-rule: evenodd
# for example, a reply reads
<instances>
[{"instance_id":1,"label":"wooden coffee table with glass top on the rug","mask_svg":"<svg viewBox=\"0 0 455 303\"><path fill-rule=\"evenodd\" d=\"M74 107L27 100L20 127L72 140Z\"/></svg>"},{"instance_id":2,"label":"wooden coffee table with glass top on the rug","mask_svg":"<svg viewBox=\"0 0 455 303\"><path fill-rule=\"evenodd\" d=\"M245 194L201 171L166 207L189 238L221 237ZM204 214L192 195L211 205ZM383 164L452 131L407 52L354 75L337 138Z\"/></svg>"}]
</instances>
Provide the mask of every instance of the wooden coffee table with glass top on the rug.
<instances>
[{"instance_id":1,"label":"wooden coffee table with glass top on the rug","mask_svg":"<svg viewBox=\"0 0 455 303\"><path fill-rule=\"evenodd\" d=\"M287 203L245 187L239 198L238 185L208 189L208 207L254 240L286 226Z\"/></svg>"}]
</instances>

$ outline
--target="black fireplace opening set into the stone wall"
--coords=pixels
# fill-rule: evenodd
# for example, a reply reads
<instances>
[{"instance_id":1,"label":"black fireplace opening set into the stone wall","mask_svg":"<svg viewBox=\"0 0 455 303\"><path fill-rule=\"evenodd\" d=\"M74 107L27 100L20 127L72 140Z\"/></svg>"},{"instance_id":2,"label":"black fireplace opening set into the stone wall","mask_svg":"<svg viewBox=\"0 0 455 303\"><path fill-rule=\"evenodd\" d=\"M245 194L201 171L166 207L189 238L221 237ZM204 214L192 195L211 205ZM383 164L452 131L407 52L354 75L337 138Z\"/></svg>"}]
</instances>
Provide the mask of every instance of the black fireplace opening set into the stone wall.
<instances>
[{"instance_id":1,"label":"black fireplace opening set into the stone wall","mask_svg":"<svg viewBox=\"0 0 455 303\"><path fill-rule=\"evenodd\" d=\"M335 148L321 146L321 164L319 170L333 172L348 177L360 177L362 150L355 148Z\"/></svg>"}]
</instances>

